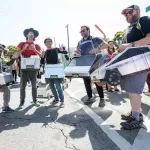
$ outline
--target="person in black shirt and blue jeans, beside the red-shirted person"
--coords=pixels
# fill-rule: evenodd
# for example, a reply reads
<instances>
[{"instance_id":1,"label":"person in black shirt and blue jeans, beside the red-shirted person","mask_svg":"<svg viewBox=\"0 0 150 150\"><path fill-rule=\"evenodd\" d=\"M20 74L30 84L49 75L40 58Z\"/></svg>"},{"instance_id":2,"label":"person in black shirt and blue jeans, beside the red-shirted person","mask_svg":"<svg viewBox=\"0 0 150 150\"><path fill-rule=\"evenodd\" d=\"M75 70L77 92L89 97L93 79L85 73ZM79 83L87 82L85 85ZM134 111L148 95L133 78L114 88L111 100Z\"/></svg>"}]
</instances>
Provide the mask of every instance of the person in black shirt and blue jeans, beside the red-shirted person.
<instances>
[{"instance_id":1,"label":"person in black shirt and blue jeans, beside the red-shirted person","mask_svg":"<svg viewBox=\"0 0 150 150\"><path fill-rule=\"evenodd\" d=\"M63 48L52 48L52 39L46 38L44 44L47 47L47 50L42 54L42 57L45 58L46 64L58 64L58 53L67 54L67 51L64 51ZM54 95L53 103L58 103L60 99L60 107L64 107L64 94L61 86L62 79L49 79L49 85L51 91Z\"/></svg>"}]
</instances>

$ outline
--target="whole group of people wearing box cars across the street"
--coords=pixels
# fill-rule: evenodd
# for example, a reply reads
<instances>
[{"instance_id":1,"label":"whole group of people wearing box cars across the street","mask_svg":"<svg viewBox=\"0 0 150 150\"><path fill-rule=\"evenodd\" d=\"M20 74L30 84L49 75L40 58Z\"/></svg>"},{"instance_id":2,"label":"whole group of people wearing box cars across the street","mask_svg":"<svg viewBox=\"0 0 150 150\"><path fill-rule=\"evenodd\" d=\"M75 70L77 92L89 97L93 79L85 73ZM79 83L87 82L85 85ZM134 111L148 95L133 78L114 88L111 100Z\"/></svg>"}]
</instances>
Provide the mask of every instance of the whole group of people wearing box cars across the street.
<instances>
[{"instance_id":1,"label":"whole group of people wearing box cars across the street","mask_svg":"<svg viewBox=\"0 0 150 150\"><path fill-rule=\"evenodd\" d=\"M126 33L122 39L122 44L119 46L119 52L124 51L128 47L139 47L150 44L150 18L145 16L140 16L140 8L137 5L131 5L128 8L125 8L122 11L122 15L126 18L127 22L130 24L126 30ZM137 24L140 24L141 28L137 28ZM113 41L103 41L98 37L92 37L90 35L90 28L86 25L81 26L81 36L82 39L78 42L77 49L75 50L76 55L95 55L95 53L100 53L103 50L107 49L108 57L107 62L112 59L117 54L117 51L114 48ZM38 44L34 44L35 39L38 37L39 32L34 30L33 28L26 29L24 31L24 36L26 37L25 42L21 42L18 44L18 53L12 56L12 59L16 59L19 55L23 55L23 57L30 57L31 55L39 55L43 58L46 64L57 64L59 63L58 53L67 54L63 48L53 48L52 47L52 39L46 38L44 40L44 44L47 47L46 51L41 51L41 47ZM94 49L90 51L86 51L88 43L92 42L94 45ZM99 44L101 43L101 44ZM131 111L127 115L121 115L125 122L121 123L121 126L125 129L131 130L135 128L140 128L143 123L143 115L140 112L141 108L141 100L142 100L142 92L145 86L145 82L149 83L148 71L134 74L131 76L125 76L121 79L121 89L125 90L130 99L131 103ZM148 76L148 78L147 78ZM37 103L37 71L21 71L21 80L20 80L20 105L19 109L21 109L25 103L25 88L28 80L31 81L32 85L32 98L35 106L39 106ZM91 87L91 79L86 78L83 79L85 88L87 91L88 99L85 102L85 105L91 104L94 102L94 98L92 97L92 87ZM62 90L62 79L49 79L48 80L51 91L54 95L53 103L60 102L60 107L64 107L64 93ZM105 106L104 100L104 92L103 86L95 83L97 92L100 97L100 107ZM112 91L112 87L107 84L107 88L109 92ZM8 107L8 102L10 100L10 90L8 92L5 91L5 88L0 87L0 91L4 92L4 111L12 111L10 107ZM117 87L114 87L115 91L119 91ZM150 86L149 86L150 91ZM9 94L8 94L9 93ZM6 105L7 103L7 105ZM7 108L7 109L6 109Z\"/></svg>"}]
</instances>

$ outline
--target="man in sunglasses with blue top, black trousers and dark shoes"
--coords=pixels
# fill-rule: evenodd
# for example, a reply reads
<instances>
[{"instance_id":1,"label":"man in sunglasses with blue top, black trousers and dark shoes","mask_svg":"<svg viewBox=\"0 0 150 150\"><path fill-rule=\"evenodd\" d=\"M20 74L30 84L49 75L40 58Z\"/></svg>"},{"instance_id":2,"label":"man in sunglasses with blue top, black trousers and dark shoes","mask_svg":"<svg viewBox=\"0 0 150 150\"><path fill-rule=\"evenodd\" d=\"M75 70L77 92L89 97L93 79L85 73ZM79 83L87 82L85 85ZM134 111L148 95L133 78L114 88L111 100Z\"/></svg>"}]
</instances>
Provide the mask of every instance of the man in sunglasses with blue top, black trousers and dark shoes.
<instances>
[{"instance_id":1,"label":"man in sunglasses with blue top, black trousers and dark shoes","mask_svg":"<svg viewBox=\"0 0 150 150\"><path fill-rule=\"evenodd\" d=\"M100 49L105 49L108 47L108 44L102 41L100 38L97 37L92 37L90 36L90 28L88 26L81 26L81 36L82 39L78 42L77 45L77 50L75 53L77 55L94 55L95 51L94 49L91 48L90 43L93 42L94 47L96 48L96 52L100 52ZM92 87L91 87L91 79L86 78L84 80L84 85L86 88L86 92L88 95L88 100L84 103L85 105L91 104L94 102L94 99L92 98ZM104 101L104 92L103 92L103 87L96 85L96 89L98 91L99 97L100 97L100 103L99 107L104 107L105 106L105 101Z\"/></svg>"}]
</instances>

